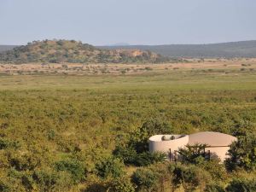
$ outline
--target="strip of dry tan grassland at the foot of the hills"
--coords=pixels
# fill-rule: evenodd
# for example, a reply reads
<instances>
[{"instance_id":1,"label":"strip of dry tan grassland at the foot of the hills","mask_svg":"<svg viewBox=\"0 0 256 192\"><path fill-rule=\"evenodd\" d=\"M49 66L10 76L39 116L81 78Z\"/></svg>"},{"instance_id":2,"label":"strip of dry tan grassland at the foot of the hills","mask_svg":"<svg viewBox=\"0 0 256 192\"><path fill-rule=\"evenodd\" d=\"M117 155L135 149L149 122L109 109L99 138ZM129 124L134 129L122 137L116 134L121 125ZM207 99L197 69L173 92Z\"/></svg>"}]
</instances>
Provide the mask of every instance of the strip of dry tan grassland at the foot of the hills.
<instances>
[{"instance_id":1,"label":"strip of dry tan grassland at the foot of the hills","mask_svg":"<svg viewBox=\"0 0 256 192\"><path fill-rule=\"evenodd\" d=\"M72 74L72 75L101 75L101 74L141 74L152 72L165 72L170 70L213 70L213 69L241 69L256 70L256 59L190 59L189 62L164 63L164 64L0 64L0 74Z\"/></svg>"}]
</instances>

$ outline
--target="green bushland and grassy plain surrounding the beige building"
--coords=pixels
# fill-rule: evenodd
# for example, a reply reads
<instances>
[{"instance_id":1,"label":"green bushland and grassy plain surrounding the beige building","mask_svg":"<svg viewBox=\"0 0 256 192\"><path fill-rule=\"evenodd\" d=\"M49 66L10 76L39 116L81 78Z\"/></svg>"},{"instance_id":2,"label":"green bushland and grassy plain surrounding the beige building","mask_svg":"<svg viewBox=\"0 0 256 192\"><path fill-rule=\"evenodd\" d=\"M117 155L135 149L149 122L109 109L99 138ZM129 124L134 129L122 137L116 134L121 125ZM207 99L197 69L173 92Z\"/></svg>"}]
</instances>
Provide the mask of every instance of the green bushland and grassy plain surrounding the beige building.
<instances>
[{"instance_id":1,"label":"green bushland and grassy plain surrounding the beige building","mask_svg":"<svg viewBox=\"0 0 256 192\"><path fill-rule=\"evenodd\" d=\"M254 73L1 76L0 88L0 191L255 191ZM240 140L225 164L147 153L154 133L195 131Z\"/></svg>"}]
</instances>

